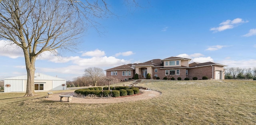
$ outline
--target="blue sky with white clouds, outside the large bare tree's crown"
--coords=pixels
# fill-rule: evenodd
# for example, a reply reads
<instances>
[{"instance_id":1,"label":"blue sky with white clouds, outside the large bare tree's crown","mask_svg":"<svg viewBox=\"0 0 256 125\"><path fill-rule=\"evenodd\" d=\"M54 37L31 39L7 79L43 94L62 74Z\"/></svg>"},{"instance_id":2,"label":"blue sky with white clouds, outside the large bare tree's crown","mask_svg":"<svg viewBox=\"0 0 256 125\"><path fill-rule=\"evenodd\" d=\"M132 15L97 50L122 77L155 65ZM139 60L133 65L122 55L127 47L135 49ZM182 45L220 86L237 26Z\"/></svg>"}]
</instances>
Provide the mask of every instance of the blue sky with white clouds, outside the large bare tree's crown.
<instances>
[{"instance_id":1,"label":"blue sky with white clouds, outside the large bare tree's crown","mask_svg":"<svg viewBox=\"0 0 256 125\"><path fill-rule=\"evenodd\" d=\"M111 0L117 16L97 20L74 52L36 61L36 73L67 80L88 67L103 70L171 56L228 67L256 67L256 0L139 0L142 7ZM0 41L0 80L26 75L24 56Z\"/></svg>"}]
</instances>

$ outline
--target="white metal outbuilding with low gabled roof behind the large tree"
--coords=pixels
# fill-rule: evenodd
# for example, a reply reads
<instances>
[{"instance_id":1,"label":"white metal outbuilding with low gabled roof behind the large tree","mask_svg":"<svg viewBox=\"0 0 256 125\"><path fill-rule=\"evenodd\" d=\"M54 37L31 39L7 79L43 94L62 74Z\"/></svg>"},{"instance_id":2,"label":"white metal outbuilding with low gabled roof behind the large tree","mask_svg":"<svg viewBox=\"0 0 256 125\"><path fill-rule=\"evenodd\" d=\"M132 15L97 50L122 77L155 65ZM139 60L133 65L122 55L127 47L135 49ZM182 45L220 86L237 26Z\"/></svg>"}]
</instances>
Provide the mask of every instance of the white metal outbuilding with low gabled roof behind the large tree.
<instances>
[{"instance_id":1,"label":"white metal outbuilding with low gabled roof behind the large tree","mask_svg":"<svg viewBox=\"0 0 256 125\"><path fill-rule=\"evenodd\" d=\"M58 77L35 73L34 90L52 91L66 90L66 80ZM4 92L22 92L26 91L27 75L10 77L4 79Z\"/></svg>"}]
</instances>

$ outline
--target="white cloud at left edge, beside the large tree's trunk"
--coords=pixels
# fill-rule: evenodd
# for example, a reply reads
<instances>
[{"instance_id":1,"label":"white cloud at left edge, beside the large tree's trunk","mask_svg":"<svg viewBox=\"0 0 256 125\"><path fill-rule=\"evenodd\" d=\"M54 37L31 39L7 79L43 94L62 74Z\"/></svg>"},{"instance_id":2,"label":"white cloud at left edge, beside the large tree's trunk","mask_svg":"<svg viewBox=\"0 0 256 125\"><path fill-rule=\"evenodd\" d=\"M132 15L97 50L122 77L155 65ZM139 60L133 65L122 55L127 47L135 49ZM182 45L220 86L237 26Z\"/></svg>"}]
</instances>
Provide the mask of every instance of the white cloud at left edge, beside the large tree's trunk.
<instances>
[{"instance_id":1,"label":"white cloud at left edge, beside the large tree's trunk","mask_svg":"<svg viewBox=\"0 0 256 125\"><path fill-rule=\"evenodd\" d=\"M6 40L0 40L0 56L16 59L24 57L24 53L16 44L10 44L10 42Z\"/></svg>"}]
</instances>

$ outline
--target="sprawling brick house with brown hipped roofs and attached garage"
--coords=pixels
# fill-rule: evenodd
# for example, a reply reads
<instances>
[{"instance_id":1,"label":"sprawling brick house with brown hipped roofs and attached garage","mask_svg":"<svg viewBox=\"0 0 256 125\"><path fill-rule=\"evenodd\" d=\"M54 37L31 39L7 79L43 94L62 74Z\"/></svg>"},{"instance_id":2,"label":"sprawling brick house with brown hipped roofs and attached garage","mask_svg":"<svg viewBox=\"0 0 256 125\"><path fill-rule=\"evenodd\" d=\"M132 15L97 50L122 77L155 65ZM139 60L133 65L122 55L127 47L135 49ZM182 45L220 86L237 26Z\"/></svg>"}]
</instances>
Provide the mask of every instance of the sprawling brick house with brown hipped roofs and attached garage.
<instances>
[{"instance_id":1,"label":"sprawling brick house with brown hipped roofs and attached garage","mask_svg":"<svg viewBox=\"0 0 256 125\"><path fill-rule=\"evenodd\" d=\"M224 66L220 63L206 62L206 63L190 63L189 58L170 57L166 59L154 59L144 63L132 63L120 65L111 69L106 69L106 76L116 77L121 80L127 80L134 77L137 73L139 79L145 79L147 73L151 74L151 78L160 77L174 77L182 79L188 77L198 77L202 79L207 76L209 79L224 79Z\"/></svg>"}]
</instances>

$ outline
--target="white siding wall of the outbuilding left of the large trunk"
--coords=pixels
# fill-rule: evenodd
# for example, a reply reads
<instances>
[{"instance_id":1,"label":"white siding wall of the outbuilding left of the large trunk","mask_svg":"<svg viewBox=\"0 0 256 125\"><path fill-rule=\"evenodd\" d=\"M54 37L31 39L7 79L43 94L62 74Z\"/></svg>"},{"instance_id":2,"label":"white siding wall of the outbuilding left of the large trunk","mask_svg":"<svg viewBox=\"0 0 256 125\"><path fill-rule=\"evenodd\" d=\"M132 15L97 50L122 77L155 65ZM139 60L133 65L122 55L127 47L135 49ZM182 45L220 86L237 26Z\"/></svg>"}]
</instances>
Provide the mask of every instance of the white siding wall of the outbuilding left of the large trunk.
<instances>
[{"instance_id":1,"label":"white siding wall of the outbuilding left of the large trunk","mask_svg":"<svg viewBox=\"0 0 256 125\"><path fill-rule=\"evenodd\" d=\"M10 84L10 87L5 87ZM24 80L4 80L4 92L24 91Z\"/></svg>"}]
</instances>

